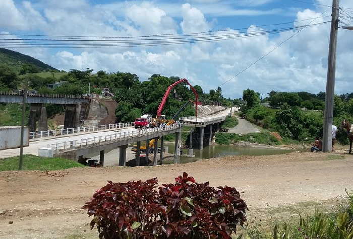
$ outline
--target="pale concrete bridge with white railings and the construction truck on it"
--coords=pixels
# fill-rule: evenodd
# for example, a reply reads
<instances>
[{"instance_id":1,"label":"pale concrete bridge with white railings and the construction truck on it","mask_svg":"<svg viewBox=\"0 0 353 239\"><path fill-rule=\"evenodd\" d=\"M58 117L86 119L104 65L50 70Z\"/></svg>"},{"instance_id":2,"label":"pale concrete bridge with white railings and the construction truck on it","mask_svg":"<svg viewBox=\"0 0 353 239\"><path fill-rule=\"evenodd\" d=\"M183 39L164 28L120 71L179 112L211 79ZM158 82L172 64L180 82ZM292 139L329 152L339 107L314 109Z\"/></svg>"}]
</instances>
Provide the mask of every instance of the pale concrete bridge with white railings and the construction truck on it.
<instances>
[{"instance_id":1,"label":"pale concrete bridge with white railings and the construction truck on it","mask_svg":"<svg viewBox=\"0 0 353 239\"><path fill-rule=\"evenodd\" d=\"M225 120L229 114L229 109L217 114L201 117L197 121L194 117L180 118L176 124L149 128L135 129L133 123L109 124L94 127L78 127L64 129L60 131L42 131L39 134L32 132L30 135L30 145L24 147L25 154L38 155L38 151L50 151L52 156L70 158L74 161L83 161L85 157L99 155L99 163L104 166L104 154L112 149L119 148L119 166L125 166L127 162L127 147L129 144L137 142L136 165L146 165L149 160L149 142L154 139L153 165L162 163L163 150L158 152L158 141L163 149L164 136L175 134L174 163L179 163L181 148L181 132L183 126L191 126L189 137L189 154L193 154L192 148L203 149L203 145L211 143L214 133L217 132L219 124ZM194 129L196 131L194 132ZM140 162L141 142L146 142L147 162ZM160 154L159 157L157 154ZM19 149L2 150L1 157L19 155Z\"/></svg>"}]
</instances>

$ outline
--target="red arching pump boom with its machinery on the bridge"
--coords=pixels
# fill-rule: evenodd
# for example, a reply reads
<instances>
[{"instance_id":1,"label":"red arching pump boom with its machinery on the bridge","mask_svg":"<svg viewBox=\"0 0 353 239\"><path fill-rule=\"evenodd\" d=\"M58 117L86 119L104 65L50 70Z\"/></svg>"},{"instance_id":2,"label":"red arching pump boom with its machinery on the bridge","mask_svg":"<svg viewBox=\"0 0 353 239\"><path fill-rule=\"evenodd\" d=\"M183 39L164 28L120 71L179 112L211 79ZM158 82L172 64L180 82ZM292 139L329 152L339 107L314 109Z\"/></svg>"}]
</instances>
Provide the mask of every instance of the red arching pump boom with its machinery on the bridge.
<instances>
[{"instance_id":1,"label":"red arching pump boom with its machinery on the bridge","mask_svg":"<svg viewBox=\"0 0 353 239\"><path fill-rule=\"evenodd\" d=\"M165 117L162 116L162 110L164 108L164 105L165 105L165 102L167 101L168 99L168 96L169 96L169 93L171 91L171 89L173 89L176 85L180 84L180 83L187 83L189 86L190 86L190 89L194 92L194 95L195 95L195 116L196 116L196 121L197 121L197 105L199 103L199 95L197 94L196 90L193 88L193 86L188 82L187 79L183 78L183 79L180 79L179 81L177 82L174 82L173 84L171 84L167 90L165 91L164 93L164 96L162 98L162 101L160 102L159 106L158 106L158 109L157 109L157 115L156 115L156 118L153 118L152 119L152 127L158 127L162 124L165 124L165 125L171 125L171 124L174 124L175 123L175 118L177 118L177 116L180 114L180 112L185 108L185 106L189 103L189 101L182 106L182 108L179 109L179 111L177 112L177 114L174 115L174 117L172 119L165 119Z\"/></svg>"}]
</instances>

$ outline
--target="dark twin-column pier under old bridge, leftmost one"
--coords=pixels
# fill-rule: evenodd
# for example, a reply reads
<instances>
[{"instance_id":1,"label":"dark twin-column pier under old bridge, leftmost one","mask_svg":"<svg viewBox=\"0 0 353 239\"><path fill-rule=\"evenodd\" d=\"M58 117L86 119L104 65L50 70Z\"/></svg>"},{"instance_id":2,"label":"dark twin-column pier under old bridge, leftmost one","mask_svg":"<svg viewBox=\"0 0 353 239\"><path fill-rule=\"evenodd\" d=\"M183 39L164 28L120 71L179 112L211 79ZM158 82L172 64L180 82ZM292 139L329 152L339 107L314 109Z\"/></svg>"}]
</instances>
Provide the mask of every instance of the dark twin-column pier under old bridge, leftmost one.
<instances>
[{"instance_id":1,"label":"dark twin-column pier under old bridge, leftmost one","mask_svg":"<svg viewBox=\"0 0 353 239\"><path fill-rule=\"evenodd\" d=\"M29 132L36 131L38 121L38 131L48 130L46 108L44 104L31 104L29 110L28 127Z\"/></svg>"}]
</instances>

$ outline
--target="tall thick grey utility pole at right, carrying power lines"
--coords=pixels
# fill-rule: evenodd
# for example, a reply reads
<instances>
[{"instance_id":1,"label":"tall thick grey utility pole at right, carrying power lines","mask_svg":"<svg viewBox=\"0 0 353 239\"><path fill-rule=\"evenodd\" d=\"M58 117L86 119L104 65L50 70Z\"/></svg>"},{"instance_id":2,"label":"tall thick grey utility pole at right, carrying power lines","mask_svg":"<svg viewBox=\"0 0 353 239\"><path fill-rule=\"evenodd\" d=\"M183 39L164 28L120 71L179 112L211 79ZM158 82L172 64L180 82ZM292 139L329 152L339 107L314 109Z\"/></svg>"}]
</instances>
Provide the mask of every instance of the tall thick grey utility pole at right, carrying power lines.
<instances>
[{"instance_id":1,"label":"tall thick grey utility pole at right, carrying power lines","mask_svg":"<svg viewBox=\"0 0 353 239\"><path fill-rule=\"evenodd\" d=\"M339 0L332 1L332 21L330 47L328 52L327 65L327 81L326 81L326 97L325 97L325 112L324 112L324 132L323 145L324 152L332 151L332 120L333 120L333 99L335 92L335 74L336 74L336 48L337 48L337 33L338 33L338 14Z\"/></svg>"}]
</instances>

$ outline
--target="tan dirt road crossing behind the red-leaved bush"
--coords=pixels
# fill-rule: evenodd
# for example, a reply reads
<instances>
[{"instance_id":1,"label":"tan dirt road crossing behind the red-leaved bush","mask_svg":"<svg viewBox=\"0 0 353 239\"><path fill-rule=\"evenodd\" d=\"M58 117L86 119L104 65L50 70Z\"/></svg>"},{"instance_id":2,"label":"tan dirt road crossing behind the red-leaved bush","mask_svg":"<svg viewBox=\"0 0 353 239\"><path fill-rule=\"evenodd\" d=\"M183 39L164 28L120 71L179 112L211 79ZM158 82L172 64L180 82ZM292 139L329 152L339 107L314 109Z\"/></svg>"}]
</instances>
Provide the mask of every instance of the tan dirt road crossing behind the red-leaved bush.
<instances>
[{"instance_id":1,"label":"tan dirt road crossing behind the red-leaved bush","mask_svg":"<svg viewBox=\"0 0 353 239\"><path fill-rule=\"evenodd\" d=\"M353 189L353 156L344 153L224 157L157 167L0 172L0 237L97 238L96 229L89 228L91 218L80 208L107 180L158 177L161 184L173 182L183 172L211 186L236 187L253 217L331 204L345 188Z\"/></svg>"}]
</instances>

